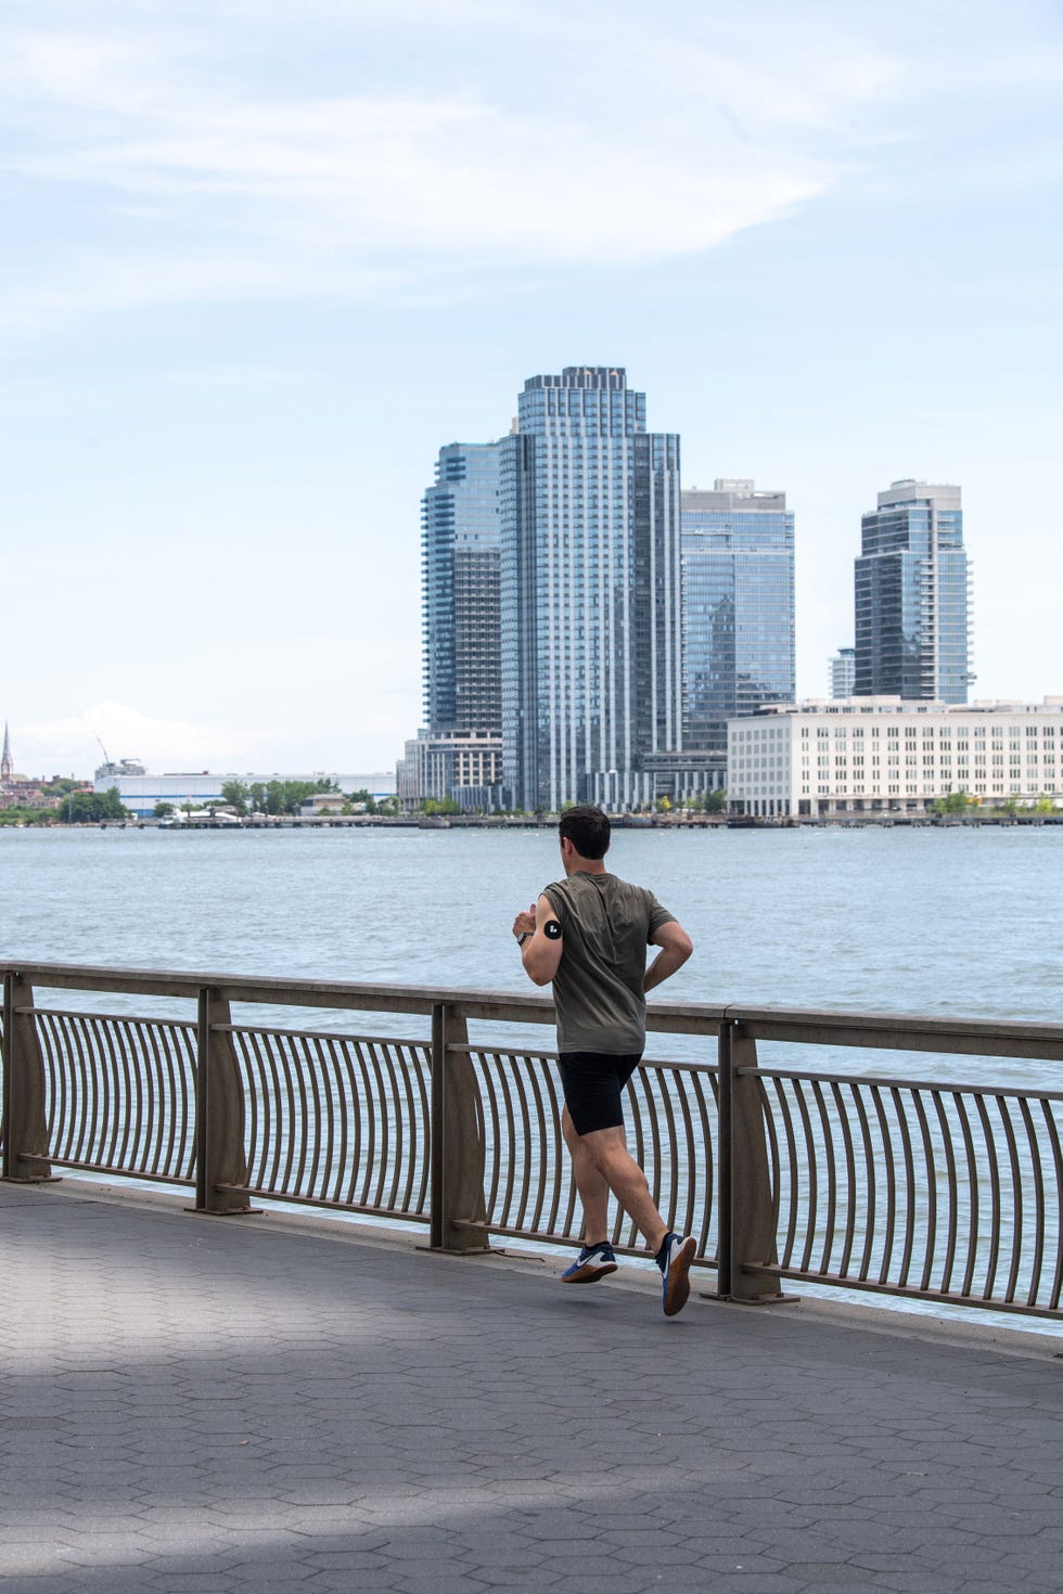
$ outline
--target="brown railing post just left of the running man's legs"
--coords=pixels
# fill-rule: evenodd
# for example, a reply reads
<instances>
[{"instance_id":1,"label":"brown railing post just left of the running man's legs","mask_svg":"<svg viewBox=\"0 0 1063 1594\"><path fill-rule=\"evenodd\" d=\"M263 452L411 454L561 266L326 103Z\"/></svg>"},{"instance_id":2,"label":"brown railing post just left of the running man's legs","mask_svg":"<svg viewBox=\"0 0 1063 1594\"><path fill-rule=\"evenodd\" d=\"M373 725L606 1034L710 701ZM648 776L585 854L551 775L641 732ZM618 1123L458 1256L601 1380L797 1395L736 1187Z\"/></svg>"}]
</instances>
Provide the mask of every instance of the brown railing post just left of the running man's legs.
<instances>
[{"instance_id":1,"label":"brown railing post just left of the running man's legs","mask_svg":"<svg viewBox=\"0 0 1063 1594\"><path fill-rule=\"evenodd\" d=\"M483 1199L483 1111L465 1015L432 1006L430 1248L489 1251Z\"/></svg>"}]
</instances>

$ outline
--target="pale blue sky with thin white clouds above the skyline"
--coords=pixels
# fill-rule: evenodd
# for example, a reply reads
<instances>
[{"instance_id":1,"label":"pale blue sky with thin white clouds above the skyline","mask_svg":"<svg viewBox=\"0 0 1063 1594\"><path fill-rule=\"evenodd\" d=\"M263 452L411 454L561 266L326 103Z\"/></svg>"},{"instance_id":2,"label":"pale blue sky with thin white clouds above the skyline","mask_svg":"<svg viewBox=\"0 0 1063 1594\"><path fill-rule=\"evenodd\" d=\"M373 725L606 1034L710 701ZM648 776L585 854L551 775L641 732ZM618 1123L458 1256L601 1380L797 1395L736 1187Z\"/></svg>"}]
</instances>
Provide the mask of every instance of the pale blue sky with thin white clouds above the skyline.
<instances>
[{"instance_id":1,"label":"pale blue sky with thin white clouds above the skyline","mask_svg":"<svg viewBox=\"0 0 1063 1594\"><path fill-rule=\"evenodd\" d=\"M787 493L800 697L904 477L1063 693L1061 89L1060 0L6 0L18 768L389 768L438 448L566 365Z\"/></svg>"}]
</instances>

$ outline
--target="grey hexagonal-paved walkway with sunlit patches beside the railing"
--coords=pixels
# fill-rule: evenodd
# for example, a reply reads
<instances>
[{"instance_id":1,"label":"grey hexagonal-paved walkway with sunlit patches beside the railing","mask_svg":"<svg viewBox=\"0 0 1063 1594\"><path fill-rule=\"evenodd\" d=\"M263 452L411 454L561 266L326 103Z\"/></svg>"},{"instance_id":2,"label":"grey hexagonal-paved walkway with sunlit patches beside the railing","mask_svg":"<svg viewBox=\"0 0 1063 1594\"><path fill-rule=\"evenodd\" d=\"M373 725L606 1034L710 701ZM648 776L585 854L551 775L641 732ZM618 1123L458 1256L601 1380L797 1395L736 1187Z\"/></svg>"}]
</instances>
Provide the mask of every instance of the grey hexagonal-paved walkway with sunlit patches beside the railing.
<instances>
[{"instance_id":1,"label":"grey hexagonal-paved walkway with sunlit patches beside the railing","mask_svg":"<svg viewBox=\"0 0 1063 1594\"><path fill-rule=\"evenodd\" d=\"M1063 1589L1057 1339L558 1272L0 1186L5 1594Z\"/></svg>"}]
</instances>

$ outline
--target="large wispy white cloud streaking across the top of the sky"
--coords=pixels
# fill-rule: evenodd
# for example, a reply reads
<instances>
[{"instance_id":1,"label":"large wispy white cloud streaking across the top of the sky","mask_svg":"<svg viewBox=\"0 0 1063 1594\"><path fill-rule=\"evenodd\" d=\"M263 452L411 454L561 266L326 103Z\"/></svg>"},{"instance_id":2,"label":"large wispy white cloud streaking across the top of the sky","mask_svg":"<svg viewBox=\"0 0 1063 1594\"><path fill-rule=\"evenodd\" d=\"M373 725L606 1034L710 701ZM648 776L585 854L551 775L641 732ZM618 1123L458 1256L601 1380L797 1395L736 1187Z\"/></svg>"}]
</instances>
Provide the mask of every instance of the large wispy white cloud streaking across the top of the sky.
<instances>
[{"instance_id":1,"label":"large wispy white cloud streaking across the top of the sky","mask_svg":"<svg viewBox=\"0 0 1063 1594\"><path fill-rule=\"evenodd\" d=\"M746 27L709 48L625 6L602 30L591 10L502 14L499 70L462 72L483 24L437 6L456 26L449 72L416 81L394 38L382 80L359 81L352 51L351 91L320 96L237 72L225 24L241 6L220 6L214 54L202 35L137 32L135 13L121 33L10 30L3 166L29 194L81 191L92 223L8 293L8 324L239 293L379 296L426 273L446 292L456 265L712 249L827 191L848 123L896 77L886 54L835 37L813 49ZM324 21L311 6L309 29Z\"/></svg>"}]
</instances>

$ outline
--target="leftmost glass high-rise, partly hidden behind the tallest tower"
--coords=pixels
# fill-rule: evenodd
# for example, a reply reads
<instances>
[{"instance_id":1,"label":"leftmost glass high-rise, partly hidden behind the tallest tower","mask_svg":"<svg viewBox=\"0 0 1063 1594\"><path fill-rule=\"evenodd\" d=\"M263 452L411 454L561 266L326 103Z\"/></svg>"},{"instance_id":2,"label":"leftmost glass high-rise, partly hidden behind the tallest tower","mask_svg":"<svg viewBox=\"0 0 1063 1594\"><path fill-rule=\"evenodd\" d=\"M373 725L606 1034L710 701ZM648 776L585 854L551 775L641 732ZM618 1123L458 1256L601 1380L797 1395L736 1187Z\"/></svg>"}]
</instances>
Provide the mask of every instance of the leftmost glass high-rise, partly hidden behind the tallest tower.
<instances>
[{"instance_id":1,"label":"leftmost glass high-rise, partly hidden behind the tallest tower","mask_svg":"<svg viewBox=\"0 0 1063 1594\"><path fill-rule=\"evenodd\" d=\"M421 502L424 713L430 732L502 727L499 445L449 443Z\"/></svg>"}]
</instances>

